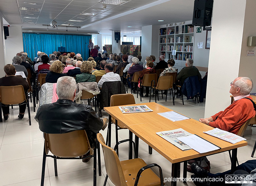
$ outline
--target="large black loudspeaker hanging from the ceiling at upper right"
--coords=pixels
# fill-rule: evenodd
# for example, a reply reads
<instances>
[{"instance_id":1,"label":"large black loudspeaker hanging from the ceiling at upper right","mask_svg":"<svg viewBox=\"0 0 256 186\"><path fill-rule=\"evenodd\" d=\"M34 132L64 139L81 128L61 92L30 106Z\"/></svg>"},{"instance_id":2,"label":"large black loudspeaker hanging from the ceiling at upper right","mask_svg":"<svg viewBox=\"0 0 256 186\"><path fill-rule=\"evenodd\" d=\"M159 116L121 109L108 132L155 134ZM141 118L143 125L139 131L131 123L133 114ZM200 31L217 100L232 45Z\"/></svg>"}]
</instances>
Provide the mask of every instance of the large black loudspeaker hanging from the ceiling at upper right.
<instances>
[{"instance_id":1,"label":"large black loudspeaker hanging from the ceiling at upper right","mask_svg":"<svg viewBox=\"0 0 256 186\"><path fill-rule=\"evenodd\" d=\"M193 26L211 26L213 0L195 0Z\"/></svg>"}]
</instances>

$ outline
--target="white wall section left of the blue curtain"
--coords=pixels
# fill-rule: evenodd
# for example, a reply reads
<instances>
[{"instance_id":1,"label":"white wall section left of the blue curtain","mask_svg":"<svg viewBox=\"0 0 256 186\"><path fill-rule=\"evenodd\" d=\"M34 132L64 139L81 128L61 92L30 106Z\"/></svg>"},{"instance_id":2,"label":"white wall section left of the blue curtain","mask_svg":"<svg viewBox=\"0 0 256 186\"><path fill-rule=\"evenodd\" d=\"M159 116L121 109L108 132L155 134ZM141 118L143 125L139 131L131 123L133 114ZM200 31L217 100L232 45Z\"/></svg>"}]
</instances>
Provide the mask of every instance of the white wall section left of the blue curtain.
<instances>
[{"instance_id":1,"label":"white wall section left of the blue curtain","mask_svg":"<svg viewBox=\"0 0 256 186\"><path fill-rule=\"evenodd\" d=\"M5 40L5 64L12 64L12 58L18 52L23 51L23 39L21 26L10 26L9 35ZM31 57L31 56L28 56Z\"/></svg>"}]
</instances>

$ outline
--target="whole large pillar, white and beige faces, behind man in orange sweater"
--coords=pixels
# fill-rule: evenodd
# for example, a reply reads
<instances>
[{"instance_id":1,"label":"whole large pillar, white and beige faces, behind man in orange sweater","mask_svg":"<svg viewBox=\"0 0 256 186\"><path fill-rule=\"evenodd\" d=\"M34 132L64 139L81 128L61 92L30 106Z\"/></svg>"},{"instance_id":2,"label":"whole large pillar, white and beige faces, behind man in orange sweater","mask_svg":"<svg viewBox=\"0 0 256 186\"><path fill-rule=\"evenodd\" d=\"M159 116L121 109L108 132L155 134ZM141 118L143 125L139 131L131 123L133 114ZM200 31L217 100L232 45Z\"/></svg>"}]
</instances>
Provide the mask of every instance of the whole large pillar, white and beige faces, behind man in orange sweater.
<instances>
[{"instance_id":1,"label":"whole large pillar, white and beige faces, behind man in orange sweater","mask_svg":"<svg viewBox=\"0 0 256 186\"><path fill-rule=\"evenodd\" d=\"M205 117L230 104L230 82L248 76L256 82L255 56L246 56L247 37L256 36L254 0L215 0L213 4ZM255 92L255 88L253 92Z\"/></svg>"}]
</instances>

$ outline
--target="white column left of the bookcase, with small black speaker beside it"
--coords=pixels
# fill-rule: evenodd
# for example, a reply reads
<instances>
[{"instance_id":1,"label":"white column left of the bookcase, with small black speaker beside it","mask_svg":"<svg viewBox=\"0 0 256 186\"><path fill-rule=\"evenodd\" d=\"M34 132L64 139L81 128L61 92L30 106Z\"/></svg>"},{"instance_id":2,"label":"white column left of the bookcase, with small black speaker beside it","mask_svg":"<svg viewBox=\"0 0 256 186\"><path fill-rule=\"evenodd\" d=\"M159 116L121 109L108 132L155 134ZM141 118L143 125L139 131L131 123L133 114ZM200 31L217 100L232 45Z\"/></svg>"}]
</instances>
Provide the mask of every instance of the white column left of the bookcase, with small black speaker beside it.
<instances>
[{"instance_id":1,"label":"white column left of the bookcase, with small black speaker beside it","mask_svg":"<svg viewBox=\"0 0 256 186\"><path fill-rule=\"evenodd\" d=\"M141 61L144 62L147 56L156 56L158 60L158 38L159 26L149 25L141 28Z\"/></svg>"}]
</instances>

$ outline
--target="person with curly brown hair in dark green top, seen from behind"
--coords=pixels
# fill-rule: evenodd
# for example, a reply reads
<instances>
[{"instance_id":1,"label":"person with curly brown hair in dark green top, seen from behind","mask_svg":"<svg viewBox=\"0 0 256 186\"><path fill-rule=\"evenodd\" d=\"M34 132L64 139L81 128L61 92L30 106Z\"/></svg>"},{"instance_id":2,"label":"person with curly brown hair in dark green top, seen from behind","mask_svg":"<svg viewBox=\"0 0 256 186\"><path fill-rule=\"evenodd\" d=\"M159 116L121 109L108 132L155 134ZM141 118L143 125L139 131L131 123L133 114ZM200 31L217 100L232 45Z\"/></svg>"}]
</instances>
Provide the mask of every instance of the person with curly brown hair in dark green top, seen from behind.
<instances>
[{"instance_id":1,"label":"person with curly brown hair in dark green top, seen from behind","mask_svg":"<svg viewBox=\"0 0 256 186\"><path fill-rule=\"evenodd\" d=\"M82 73L76 75L76 83L96 81L96 76L90 74L92 71L92 63L90 61L83 61L80 71Z\"/></svg>"}]
</instances>

